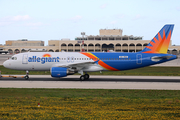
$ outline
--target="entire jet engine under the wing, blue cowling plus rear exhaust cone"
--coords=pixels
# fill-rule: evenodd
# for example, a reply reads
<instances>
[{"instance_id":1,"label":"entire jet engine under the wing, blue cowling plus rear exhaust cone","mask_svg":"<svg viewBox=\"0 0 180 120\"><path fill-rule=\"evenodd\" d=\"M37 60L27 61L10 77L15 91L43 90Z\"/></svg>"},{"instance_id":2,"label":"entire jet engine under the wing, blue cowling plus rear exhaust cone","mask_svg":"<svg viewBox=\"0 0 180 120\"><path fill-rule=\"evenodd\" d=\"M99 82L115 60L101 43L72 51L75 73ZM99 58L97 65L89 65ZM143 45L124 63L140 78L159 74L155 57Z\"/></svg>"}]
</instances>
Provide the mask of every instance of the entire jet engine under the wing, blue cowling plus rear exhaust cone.
<instances>
[{"instance_id":1,"label":"entire jet engine under the wing, blue cowling plus rear exhaust cone","mask_svg":"<svg viewBox=\"0 0 180 120\"><path fill-rule=\"evenodd\" d=\"M70 70L65 67L52 67L50 71L52 77L66 77L67 75L72 75L74 73L77 73L76 70L73 69Z\"/></svg>"}]
</instances>

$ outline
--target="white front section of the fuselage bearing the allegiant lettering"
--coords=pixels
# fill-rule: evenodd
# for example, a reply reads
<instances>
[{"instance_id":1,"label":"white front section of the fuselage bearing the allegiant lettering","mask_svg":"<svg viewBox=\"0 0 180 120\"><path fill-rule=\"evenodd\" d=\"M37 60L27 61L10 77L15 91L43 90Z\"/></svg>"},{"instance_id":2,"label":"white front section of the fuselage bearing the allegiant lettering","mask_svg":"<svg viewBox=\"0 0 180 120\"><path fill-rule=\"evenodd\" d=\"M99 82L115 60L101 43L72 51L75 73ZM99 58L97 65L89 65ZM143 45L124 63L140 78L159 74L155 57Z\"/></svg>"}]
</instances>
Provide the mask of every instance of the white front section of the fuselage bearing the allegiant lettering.
<instances>
[{"instance_id":1,"label":"white front section of the fuselage bearing the allegiant lettering","mask_svg":"<svg viewBox=\"0 0 180 120\"><path fill-rule=\"evenodd\" d=\"M43 57L45 54L50 56ZM71 64L79 64L83 62L88 63L93 62L93 60L83 54L80 54L79 52L51 52L50 54L48 52L27 52L12 56L11 59L5 61L3 65L6 68L15 70L49 71L51 67L66 67ZM88 64L83 66L83 71L85 72L101 70L106 69L102 68L98 64Z\"/></svg>"}]
</instances>

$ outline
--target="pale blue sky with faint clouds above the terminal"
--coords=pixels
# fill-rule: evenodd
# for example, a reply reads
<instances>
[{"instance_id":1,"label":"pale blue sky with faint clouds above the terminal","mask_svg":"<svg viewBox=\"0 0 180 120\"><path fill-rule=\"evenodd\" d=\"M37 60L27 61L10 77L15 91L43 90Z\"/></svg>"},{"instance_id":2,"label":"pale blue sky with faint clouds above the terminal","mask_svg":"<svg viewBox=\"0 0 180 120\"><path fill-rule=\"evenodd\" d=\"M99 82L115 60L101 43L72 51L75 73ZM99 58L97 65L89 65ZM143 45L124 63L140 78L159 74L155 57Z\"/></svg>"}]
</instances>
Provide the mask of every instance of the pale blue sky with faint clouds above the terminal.
<instances>
[{"instance_id":1,"label":"pale blue sky with faint clouds above the terminal","mask_svg":"<svg viewBox=\"0 0 180 120\"><path fill-rule=\"evenodd\" d=\"M175 24L172 44L180 45L180 0L0 0L0 44L6 40L74 40L81 32L123 29L123 35L151 40Z\"/></svg>"}]
</instances>

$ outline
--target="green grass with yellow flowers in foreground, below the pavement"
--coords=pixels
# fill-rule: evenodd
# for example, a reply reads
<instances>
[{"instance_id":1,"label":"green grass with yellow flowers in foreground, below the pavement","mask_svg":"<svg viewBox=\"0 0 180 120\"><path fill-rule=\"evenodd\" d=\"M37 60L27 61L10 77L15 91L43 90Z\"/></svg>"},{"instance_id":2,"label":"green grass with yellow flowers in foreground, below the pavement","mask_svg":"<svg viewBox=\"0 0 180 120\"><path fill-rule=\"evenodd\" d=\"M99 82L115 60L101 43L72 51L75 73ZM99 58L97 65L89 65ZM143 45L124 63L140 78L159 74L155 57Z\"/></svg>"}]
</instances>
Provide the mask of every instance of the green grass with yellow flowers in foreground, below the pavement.
<instances>
[{"instance_id":1,"label":"green grass with yellow flowers in foreground, below the pavement","mask_svg":"<svg viewBox=\"0 0 180 120\"><path fill-rule=\"evenodd\" d=\"M180 91L1 88L0 119L180 119Z\"/></svg>"}]
</instances>

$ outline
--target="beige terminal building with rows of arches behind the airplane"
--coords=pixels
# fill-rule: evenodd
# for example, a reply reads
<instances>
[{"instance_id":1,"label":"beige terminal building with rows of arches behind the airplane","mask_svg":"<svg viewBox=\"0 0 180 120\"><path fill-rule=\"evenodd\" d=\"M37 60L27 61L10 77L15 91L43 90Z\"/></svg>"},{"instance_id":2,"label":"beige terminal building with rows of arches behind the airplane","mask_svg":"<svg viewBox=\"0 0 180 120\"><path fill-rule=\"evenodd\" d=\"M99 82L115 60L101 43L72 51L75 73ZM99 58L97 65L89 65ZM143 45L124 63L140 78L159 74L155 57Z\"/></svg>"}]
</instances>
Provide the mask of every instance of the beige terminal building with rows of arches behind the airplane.
<instances>
[{"instance_id":1,"label":"beige terminal building with rows of arches behind the airplane","mask_svg":"<svg viewBox=\"0 0 180 120\"><path fill-rule=\"evenodd\" d=\"M8 40L1 48L9 53L17 54L27 51L33 52L138 52L148 45L150 40L142 40L141 36L123 35L122 29L100 29L99 35L85 35L76 37L75 40L61 39L49 40L48 46L44 41L37 40ZM168 53L179 54L180 46L169 45Z\"/></svg>"}]
</instances>

